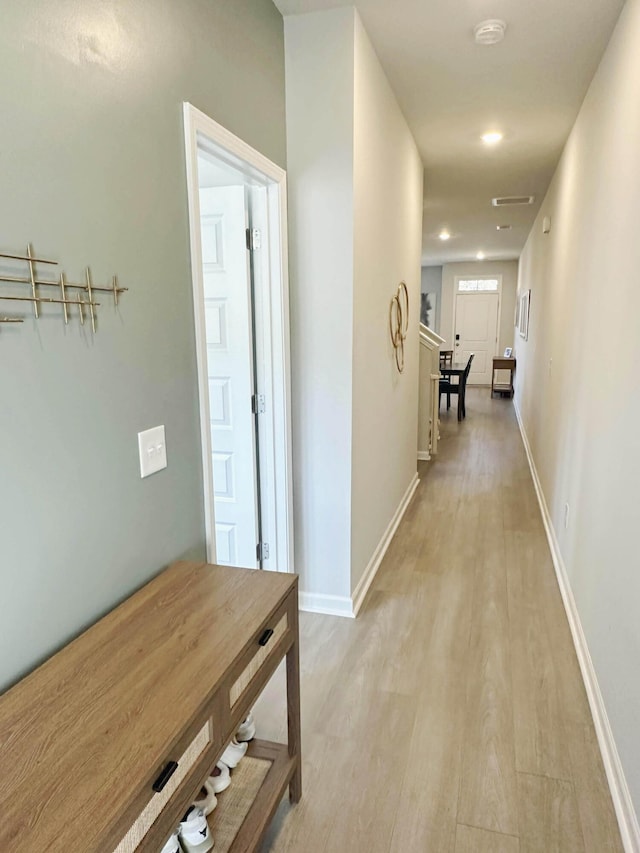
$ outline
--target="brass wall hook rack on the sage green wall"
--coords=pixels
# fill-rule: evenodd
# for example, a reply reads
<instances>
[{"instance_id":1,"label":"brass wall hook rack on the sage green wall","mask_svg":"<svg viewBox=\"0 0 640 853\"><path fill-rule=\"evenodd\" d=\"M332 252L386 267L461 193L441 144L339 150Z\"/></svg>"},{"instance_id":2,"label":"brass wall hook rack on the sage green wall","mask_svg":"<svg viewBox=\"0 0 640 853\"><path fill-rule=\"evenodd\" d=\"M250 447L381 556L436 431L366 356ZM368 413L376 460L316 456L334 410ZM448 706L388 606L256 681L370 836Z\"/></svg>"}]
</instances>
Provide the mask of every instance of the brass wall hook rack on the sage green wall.
<instances>
[{"instance_id":1,"label":"brass wall hook rack on the sage green wall","mask_svg":"<svg viewBox=\"0 0 640 853\"><path fill-rule=\"evenodd\" d=\"M11 302L30 302L33 305L33 313L36 320L40 319L40 305L42 304L55 304L62 305L63 308L63 316L65 324L69 323L69 306L75 305L78 308L78 316L80 319L80 323L84 325L85 306L89 309L89 316L91 318L91 328L95 333L97 331L96 321L96 308L99 307L100 303L96 302L94 299L94 292L102 292L102 293L110 293L113 296L113 304L117 308L119 304L119 296L121 293L125 293L129 288L128 287L120 287L118 284L117 276L113 276L111 279L110 285L98 285L94 284L91 277L91 270L89 267L85 269L85 283L78 284L76 282L67 281L64 272L61 272L58 279L47 279L41 278L37 275L36 272L36 264L47 264L49 266L57 266L58 262L52 260L51 258L39 258L34 256L33 250L31 248L31 244L27 245L27 252L25 255L17 255L8 252L0 252L0 259L5 259L7 261L22 261L27 264L28 275L9 275L3 272L0 272L0 281L7 282L8 284L25 284L27 287L31 289L30 296L15 296L9 293L0 293L0 300L3 301L11 301ZM41 296L39 293L39 288L41 287L55 287L59 290L59 297L51 297L51 296ZM86 294L86 299L84 296L81 296L80 293L76 295L75 299L71 299L70 294L67 294L67 290L78 290L83 294ZM7 318L3 322L22 322L21 318L9 319Z\"/></svg>"}]
</instances>

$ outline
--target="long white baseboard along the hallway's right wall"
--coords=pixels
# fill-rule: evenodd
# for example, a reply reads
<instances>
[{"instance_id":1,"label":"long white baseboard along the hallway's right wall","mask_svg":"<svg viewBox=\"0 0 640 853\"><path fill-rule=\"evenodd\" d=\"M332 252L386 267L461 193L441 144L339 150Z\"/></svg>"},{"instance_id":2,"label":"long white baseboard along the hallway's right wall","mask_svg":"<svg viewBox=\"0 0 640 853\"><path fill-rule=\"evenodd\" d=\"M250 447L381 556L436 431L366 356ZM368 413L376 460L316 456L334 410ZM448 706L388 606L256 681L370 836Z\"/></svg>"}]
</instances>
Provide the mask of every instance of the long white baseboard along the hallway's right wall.
<instances>
[{"instance_id":1,"label":"long white baseboard along the hallway's right wall","mask_svg":"<svg viewBox=\"0 0 640 853\"><path fill-rule=\"evenodd\" d=\"M533 461L529 439L527 438L520 410L515 399L513 401L513 407L516 412L516 418L518 419L522 443L524 444L524 449L529 461L529 468L531 469L533 484L538 496L538 503L540 504L542 521L549 541L549 548L551 550L551 557L553 559L553 565L558 579L558 586L560 587L560 593L562 594L562 601L567 613L567 619L569 620L569 627L571 628L571 636L573 637L573 644L576 649L576 655L578 656L582 679L587 691L589 707L591 708L591 716L593 717L593 725L596 730L598 744L602 754L602 761L607 774L609 789L611 790L611 798L613 799L613 805L618 818L622 843L626 853L639 853L640 826L638 825L638 817L633 807L627 780L625 779L622 764L620 762L620 756L618 755L618 749L609 724L607 710L602 698L602 693L600 692L600 686L598 685L596 671L593 666L593 661L591 660L584 631L582 630L582 624L580 622L578 608L571 590L567 569L565 567L564 560L562 559L562 554L560 553L560 546L551 521L549 508L542 491L535 462Z\"/></svg>"}]
</instances>

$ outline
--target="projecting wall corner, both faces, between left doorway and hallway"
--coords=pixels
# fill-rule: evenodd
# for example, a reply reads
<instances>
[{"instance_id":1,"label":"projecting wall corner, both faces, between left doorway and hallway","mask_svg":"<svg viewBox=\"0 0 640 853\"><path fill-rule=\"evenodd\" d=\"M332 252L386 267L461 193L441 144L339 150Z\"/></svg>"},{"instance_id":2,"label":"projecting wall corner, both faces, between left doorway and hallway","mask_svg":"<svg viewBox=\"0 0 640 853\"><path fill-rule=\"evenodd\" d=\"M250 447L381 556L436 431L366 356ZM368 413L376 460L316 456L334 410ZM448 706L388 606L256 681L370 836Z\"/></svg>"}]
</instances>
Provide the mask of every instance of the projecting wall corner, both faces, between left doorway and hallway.
<instances>
[{"instance_id":1,"label":"projecting wall corner, both faces, between left doorway and hallway","mask_svg":"<svg viewBox=\"0 0 640 853\"><path fill-rule=\"evenodd\" d=\"M353 7L287 17L285 53L295 565L303 605L350 612L416 474L422 164Z\"/></svg>"}]
</instances>

